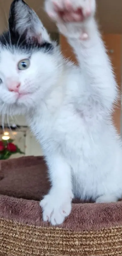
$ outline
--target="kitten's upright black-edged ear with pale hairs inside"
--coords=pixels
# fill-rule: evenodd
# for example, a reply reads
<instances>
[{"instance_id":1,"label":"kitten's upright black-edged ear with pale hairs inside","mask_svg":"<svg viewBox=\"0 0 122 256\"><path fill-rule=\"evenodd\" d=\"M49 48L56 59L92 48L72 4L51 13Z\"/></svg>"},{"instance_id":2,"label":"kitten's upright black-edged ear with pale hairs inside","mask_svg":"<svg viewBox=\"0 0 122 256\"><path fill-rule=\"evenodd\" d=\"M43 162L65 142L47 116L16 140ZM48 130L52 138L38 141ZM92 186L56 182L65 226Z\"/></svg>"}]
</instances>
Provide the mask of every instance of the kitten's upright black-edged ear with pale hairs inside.
<instances>
[{"instance_id":1,"label":"kitten's upright black-edged ear with pale hairs inside","mask_svg":"<svg viewBox=\"0 0 122 256\"><path fill-rule=\"evenodd\" d=\"M36 13L23 1L14 0L9 13L10 33L24 34L27 42L51 42L49 34Z\"/></svg>"}]
</instances>

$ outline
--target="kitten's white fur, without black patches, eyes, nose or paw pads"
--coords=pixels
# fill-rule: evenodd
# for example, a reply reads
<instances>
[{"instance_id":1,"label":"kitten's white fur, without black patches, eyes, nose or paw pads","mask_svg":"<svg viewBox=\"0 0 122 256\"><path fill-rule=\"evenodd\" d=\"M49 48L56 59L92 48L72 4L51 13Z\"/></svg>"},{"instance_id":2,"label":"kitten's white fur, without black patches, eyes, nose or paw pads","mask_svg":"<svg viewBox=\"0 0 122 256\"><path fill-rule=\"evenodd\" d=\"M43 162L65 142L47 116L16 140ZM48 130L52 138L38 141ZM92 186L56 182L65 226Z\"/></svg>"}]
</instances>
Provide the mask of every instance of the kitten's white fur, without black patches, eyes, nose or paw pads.
<instances>
[{"instance_id":1,"label":"kitten's white fur, without black patches, eyes, nose or paw pads","mask_svg":"<svg viewBox=\"0 0 122 256\"><path fill-rule=\"evenodd\" d=\"M82 6L82 1L76 2ZM51 0L48 3L52 5ZM1 109L25 113L40 141L52 183L41 206L44 221L53 225L69 215L73 197L102 203L122 195L122 146L111 121L117 87L101 36L93 16L81 24L63 24L64 30L62 24L58 27L79 67L64 61L57 47L54 54L33 53L31 66L21 72L16 63L26 55L4 49L0 56ZM81 41L83 29L88 39ZM8 77L18 79L20 90L30 95L17 100L16 93L7 90Z\"/></svg>"}]
</instances>

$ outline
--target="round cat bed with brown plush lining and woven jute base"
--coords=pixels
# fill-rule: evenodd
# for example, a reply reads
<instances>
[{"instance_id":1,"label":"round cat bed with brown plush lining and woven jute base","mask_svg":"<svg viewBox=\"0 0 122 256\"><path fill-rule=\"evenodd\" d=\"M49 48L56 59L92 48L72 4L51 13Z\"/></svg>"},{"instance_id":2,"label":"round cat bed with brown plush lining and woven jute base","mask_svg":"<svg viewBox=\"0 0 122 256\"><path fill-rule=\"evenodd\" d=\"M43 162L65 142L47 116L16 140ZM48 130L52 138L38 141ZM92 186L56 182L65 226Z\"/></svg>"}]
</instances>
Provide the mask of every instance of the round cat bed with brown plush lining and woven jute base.
<instances>
[{"instance_id":1,"label":"round cat bed with brown plush lining and woven jute base","mask_svg":"<svg viewBox=\"0 0 122 256\"><path fill-rule=\"evenodd\" d=\"M0 256L122 255L122 202L73 201L60 226L42 220L50 188L42 157L0 161Z\"/></svg>"}]
</instances>

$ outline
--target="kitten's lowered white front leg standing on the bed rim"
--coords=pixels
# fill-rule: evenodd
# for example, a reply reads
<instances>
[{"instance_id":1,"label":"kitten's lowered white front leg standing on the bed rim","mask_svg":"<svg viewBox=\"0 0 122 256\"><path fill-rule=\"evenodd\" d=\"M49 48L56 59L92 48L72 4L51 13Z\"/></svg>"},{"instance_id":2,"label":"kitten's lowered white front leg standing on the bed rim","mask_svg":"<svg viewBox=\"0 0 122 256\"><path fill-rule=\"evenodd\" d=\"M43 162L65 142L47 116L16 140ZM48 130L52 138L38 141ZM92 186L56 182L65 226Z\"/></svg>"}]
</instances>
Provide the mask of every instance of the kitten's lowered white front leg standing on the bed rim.
<instances>
[{"instance_id":1,"label":"kitten's lowered white front leg standing on the bed rim","mask_svg":"<svg viewBox=\"0 0 122 256\"><path fill-rule=\"evenodd\" d=\"M41 200L43 220L52 225L61 224L71 212L73 198L71 186L71 168L60 156L47 158L52 188Z\"/></svg>"}]
</instances>

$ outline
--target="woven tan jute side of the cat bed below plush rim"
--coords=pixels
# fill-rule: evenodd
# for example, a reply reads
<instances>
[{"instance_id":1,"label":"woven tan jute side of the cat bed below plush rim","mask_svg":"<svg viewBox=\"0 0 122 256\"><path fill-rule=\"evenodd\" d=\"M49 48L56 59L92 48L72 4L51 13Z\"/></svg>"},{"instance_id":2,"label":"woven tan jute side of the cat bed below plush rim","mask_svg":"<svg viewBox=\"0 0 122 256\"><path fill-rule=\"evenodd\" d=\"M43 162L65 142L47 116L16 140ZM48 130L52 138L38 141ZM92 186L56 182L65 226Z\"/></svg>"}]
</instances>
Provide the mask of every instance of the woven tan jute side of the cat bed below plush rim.
<instances>
[{"instance_id":1,"label":"woven tan jute side of the cat bed below plush rim","mask_svg":"<svg viewBox=\"0 0 122 256\"><path fill-rule=\"evenodd\" d=\"M122 227L100 231L68 231L22 225L0 219L1 256L122 255Z\"/></svg>"}]
</instances>

